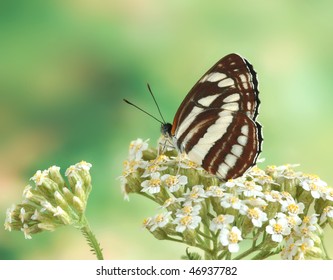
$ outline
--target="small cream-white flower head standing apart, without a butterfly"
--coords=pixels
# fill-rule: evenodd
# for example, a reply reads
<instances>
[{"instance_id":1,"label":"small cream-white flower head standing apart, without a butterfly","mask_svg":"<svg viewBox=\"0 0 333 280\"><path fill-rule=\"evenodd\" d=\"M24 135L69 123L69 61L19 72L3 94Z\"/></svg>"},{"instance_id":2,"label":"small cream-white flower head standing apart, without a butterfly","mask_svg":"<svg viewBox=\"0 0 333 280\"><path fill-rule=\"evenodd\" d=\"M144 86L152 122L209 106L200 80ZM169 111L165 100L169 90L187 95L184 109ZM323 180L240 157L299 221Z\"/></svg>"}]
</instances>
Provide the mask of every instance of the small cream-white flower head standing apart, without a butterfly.
<instances>
[{"instance_id":1,"label":"small cream-white flower head standing apart, without a butterfly","mask_svg":"<svg viewBox=\"0 0 333 280\"><path fill-rule=\"evenodd\" d=\"M23 201L7 209L5 229L20 230L26 239L44 230L76 224L86 209L91 191L91 164L81 161L70 166L65 175L69 186L60 174L60 167L38 170L23 191Z\"/></svg>"}]
</instances>

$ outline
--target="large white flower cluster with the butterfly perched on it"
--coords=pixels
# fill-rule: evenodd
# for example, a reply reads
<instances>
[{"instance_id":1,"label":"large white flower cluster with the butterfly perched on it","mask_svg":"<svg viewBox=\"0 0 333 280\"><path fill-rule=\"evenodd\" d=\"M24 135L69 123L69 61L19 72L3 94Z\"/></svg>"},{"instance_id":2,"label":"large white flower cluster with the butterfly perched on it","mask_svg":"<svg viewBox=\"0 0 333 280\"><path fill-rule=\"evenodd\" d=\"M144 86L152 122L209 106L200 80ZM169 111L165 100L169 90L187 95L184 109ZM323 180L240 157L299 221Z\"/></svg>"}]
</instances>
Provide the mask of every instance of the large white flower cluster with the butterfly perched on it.
<instances>
[{"instance_id":1,"label":"large white flower cluster with the butterfly perched on it","mask_svg":"<svg viewBox=\"0 0 333 280\"><path fill-rule=\"evenodd\" d=\"M120 179L126 198L144 195L164 211L144 221L156 238L198 247L212 259L230 258L244 239L252 246L240 257L325 258L322 234L333 225L333 189L317 176L284 165L254 167L220 182L185 155L161 153L147 142L131 142Z\"/></svg>"}]
</instances>

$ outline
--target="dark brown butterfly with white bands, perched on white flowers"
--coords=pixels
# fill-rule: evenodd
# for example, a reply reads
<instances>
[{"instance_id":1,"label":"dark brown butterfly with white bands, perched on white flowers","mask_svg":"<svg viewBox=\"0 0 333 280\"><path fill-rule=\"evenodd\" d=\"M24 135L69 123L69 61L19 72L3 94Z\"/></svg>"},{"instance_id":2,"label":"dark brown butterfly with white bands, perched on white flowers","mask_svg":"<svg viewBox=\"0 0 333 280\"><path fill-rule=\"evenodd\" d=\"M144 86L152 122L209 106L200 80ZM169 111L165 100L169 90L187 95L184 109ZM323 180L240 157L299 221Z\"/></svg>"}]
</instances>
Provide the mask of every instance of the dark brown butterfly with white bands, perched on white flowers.
<instances>
[{"instance_id":1,"label":"dark brown butterfly with white bands, perched on white flowers","mask_svg":"<svg viewBox=\"0 0 333 280\"><path fill-rule=\"evenodd\" d=\"M237 54L220 59L194 85L161 131L190 160L225 181L256 164L263 142L256 72Z\"/></svg>"}]
</instances>

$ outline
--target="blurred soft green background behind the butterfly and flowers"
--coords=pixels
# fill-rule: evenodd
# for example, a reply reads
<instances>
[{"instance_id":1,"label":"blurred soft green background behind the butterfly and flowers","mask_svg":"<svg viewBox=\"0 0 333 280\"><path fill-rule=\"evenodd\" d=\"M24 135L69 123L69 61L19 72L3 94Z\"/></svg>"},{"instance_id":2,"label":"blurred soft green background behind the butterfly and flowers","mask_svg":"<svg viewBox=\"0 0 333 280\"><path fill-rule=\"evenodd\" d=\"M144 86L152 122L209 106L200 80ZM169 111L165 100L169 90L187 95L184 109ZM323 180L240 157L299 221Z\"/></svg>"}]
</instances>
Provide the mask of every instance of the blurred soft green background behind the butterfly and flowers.
<instances>
[{"instance_id":1,"label":"blurred soft green background behind the butterfly and flowers","mask_svg":"<svg viewBox=\"0 0 333 280\"><path fill-rule=\"evenodd\" d=\"M222 56L245 56L259 75L267 164L332 173L333 2L0 2L0 221L38 169L92 163L87 216L108 259L178 259L185 247L141 229L156 205L124 201L128 144L155 143L149 82L172 121L194 83ZM332 231L327 230L333 255ZM24 240L0 228L0 259L94 259L80 232Z\"/></svg>"}]
</instances>

